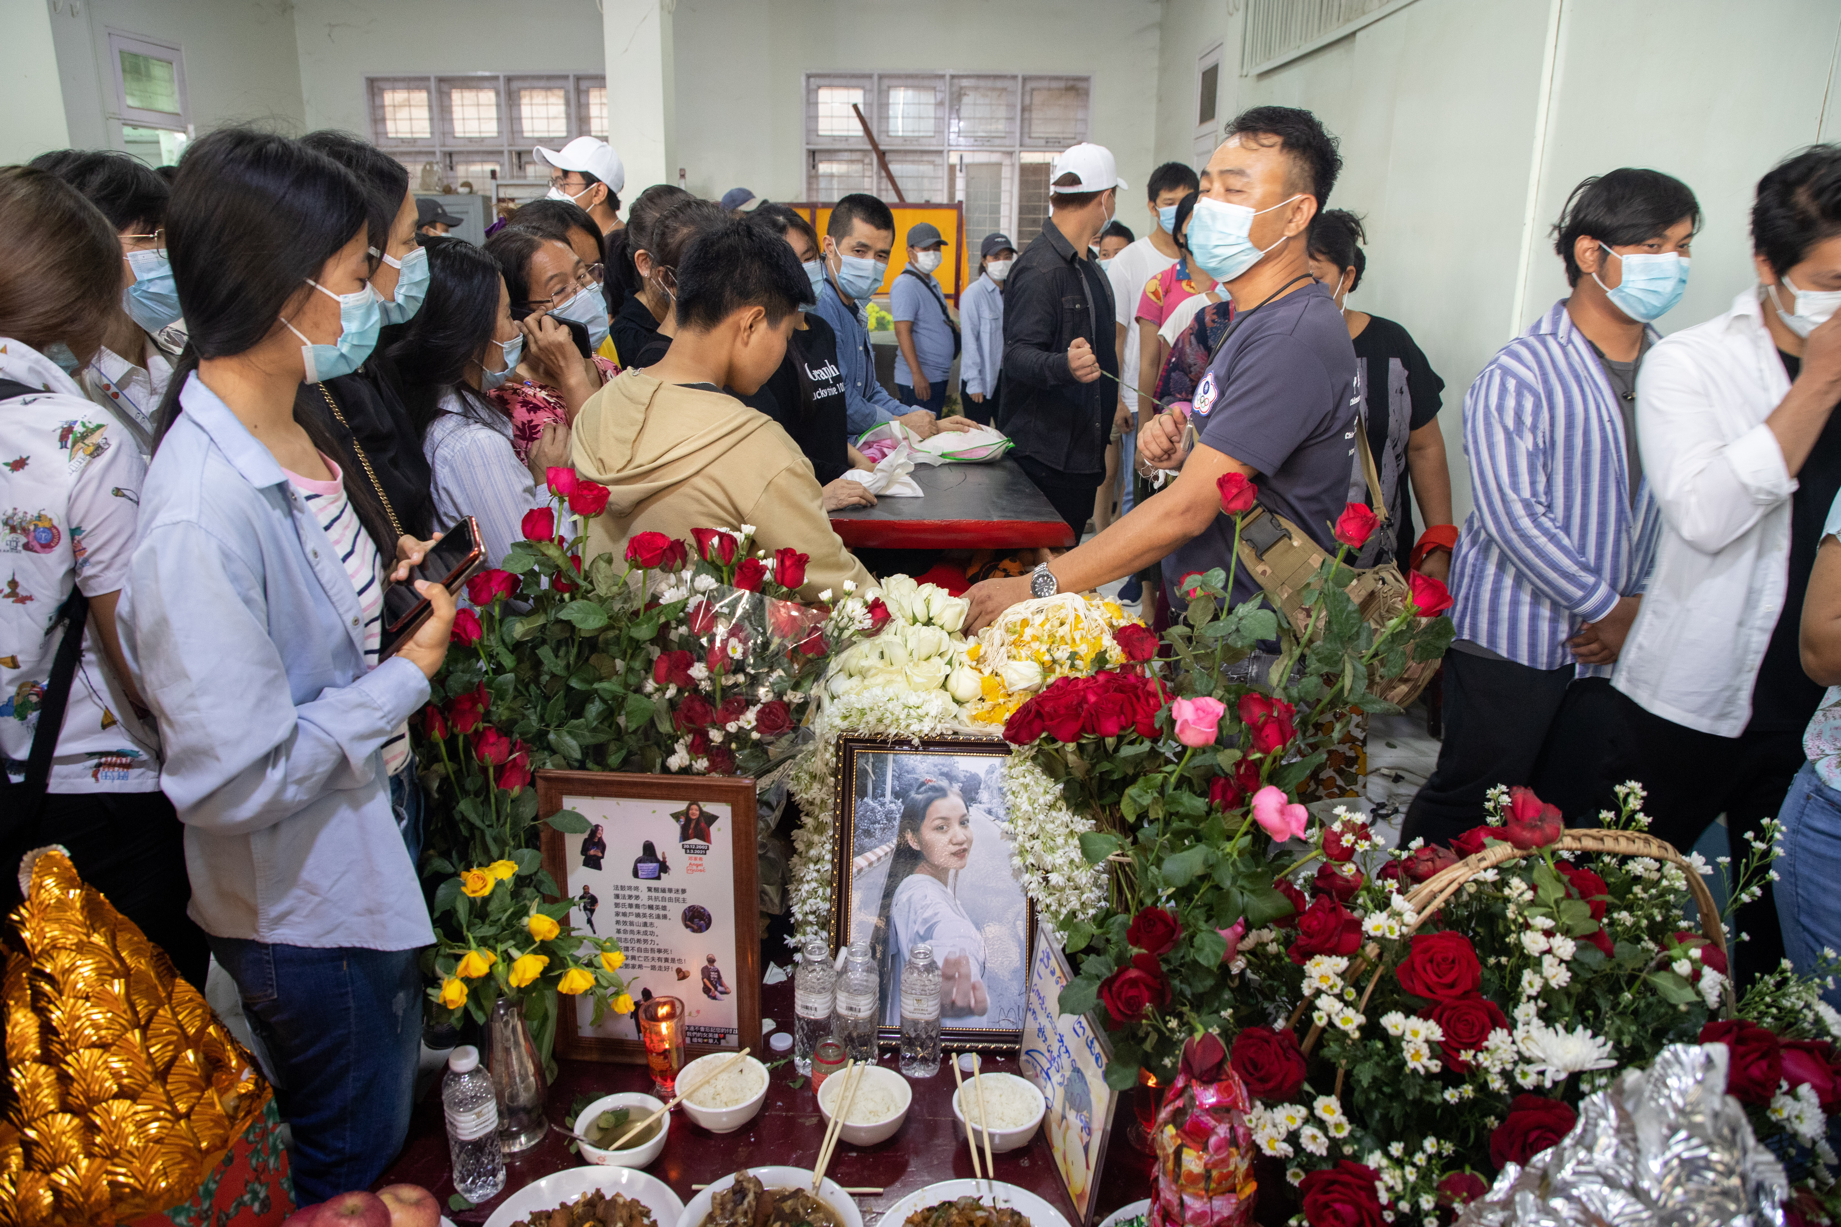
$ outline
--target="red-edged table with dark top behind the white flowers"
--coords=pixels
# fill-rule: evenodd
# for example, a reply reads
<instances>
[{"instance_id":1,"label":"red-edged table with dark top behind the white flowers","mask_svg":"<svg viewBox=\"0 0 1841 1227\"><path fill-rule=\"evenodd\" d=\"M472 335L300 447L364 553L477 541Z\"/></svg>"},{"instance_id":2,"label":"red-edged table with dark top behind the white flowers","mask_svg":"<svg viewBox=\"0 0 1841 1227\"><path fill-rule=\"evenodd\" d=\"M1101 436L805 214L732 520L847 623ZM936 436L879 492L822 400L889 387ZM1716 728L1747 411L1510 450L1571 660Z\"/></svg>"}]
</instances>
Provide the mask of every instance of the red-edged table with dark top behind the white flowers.
<instances>
[{"instance_id":1,"label":"red-edged table with dark top behind the white flowers","mask_svg":"<svg viewBox=\"0 0 1841 1227\"><path fill-rule=\"evenodd\" d=\"M1066 548L1073 530L1014 460L917 465L924 499L876 499L830 513L852 550Z\"/></svg>"}]
</instances>

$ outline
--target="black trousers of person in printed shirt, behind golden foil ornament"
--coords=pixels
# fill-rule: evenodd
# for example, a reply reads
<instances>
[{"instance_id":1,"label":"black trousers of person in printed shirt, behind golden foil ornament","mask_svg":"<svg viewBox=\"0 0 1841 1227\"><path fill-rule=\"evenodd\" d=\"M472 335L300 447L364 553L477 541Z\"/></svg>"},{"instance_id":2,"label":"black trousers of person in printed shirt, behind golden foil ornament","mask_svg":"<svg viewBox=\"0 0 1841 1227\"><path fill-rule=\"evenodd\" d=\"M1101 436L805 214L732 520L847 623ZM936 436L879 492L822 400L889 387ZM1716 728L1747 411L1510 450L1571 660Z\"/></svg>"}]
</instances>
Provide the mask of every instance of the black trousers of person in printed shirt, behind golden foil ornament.
<instances>
[{"instance_id":1,"label":"black trousers of person in printed shirt, behind golden foil ornament","mask_svg":"<svg viewBox=\"0 0 1841 1227\"><path fill-rule=\"evenodd\" d=\"M0 872L6 909L20 898L20 855L63 844L83 881L101 890L203 993L212 951L204 931L186 914L191 883L184 830L164 793L48 793L39 822L15 833L6 850Z\"/></svg>"}]
</instances>

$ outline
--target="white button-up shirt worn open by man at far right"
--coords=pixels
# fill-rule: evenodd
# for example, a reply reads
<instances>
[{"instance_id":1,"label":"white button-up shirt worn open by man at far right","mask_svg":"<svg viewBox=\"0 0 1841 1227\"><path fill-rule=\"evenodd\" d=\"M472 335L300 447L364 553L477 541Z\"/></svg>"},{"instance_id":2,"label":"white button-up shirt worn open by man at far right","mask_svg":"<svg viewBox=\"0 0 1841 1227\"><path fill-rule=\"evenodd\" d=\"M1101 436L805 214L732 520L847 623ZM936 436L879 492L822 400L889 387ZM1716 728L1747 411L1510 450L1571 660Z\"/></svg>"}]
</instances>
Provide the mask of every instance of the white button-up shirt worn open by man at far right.
<instances>
[{"instance_id":1,"label":"white button-up shirt worn open by man at far right","mask_svg":"<svg viewBox=\"0 0 1841 1227\"><path fill-rule=\"evenodd\" d=\"M1657 342L1637 375L1642 475L1662 533L1611 684L1721 738L1745 730L1784 613L1797 480L1764 419L1788 392L1754 285L1725 315Z\"/></svg>"}]
</instances>

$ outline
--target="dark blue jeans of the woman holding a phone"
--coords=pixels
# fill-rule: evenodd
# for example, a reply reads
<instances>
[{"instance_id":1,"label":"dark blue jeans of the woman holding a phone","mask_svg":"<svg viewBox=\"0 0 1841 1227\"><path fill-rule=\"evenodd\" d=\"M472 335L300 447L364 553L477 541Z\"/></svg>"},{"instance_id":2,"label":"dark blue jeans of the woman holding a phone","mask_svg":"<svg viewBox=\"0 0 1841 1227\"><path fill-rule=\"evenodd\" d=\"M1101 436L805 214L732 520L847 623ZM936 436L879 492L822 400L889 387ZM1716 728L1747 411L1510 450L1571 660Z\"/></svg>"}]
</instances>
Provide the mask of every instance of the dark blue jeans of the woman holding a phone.
<instances>
[{"instance_id":1,"label":"dark blue jeans of the woman holding a phone","mask_svg":"<svg viewBox=\"0 0 1841 1227\"><path fill-rule=\"evenodd\" d=\"M295 1135L295 1201L368 1188L409 1135L422 1056L418 951L210 942L274 1067Z\"/></svg>"}]
</instances>

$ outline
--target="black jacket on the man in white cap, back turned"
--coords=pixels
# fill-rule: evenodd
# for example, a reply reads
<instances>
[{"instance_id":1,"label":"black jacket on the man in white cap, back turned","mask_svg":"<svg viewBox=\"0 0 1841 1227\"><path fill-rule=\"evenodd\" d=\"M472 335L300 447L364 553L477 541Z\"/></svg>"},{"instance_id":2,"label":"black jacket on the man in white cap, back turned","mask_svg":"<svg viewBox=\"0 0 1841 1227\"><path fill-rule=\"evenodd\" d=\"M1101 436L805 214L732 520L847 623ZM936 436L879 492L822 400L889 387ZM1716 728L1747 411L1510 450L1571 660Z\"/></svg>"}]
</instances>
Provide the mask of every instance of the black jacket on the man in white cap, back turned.
<instances>
[{"instance_id":1,"label":"black jacket on the man in white cap, back turned","mask_svg":"<svg viewBox=\"0 0 1841 1227\"><path fill-rule=\"evenodd\" d=\"M1119 401L1112 285L1055 228L1016 258L1003 285L1003 432L1016 454L1059 473L1105 473L1112 410ZM1101 375L1079 383L1068 346L1084 337Z\"/></svg>"}]
</instances>

